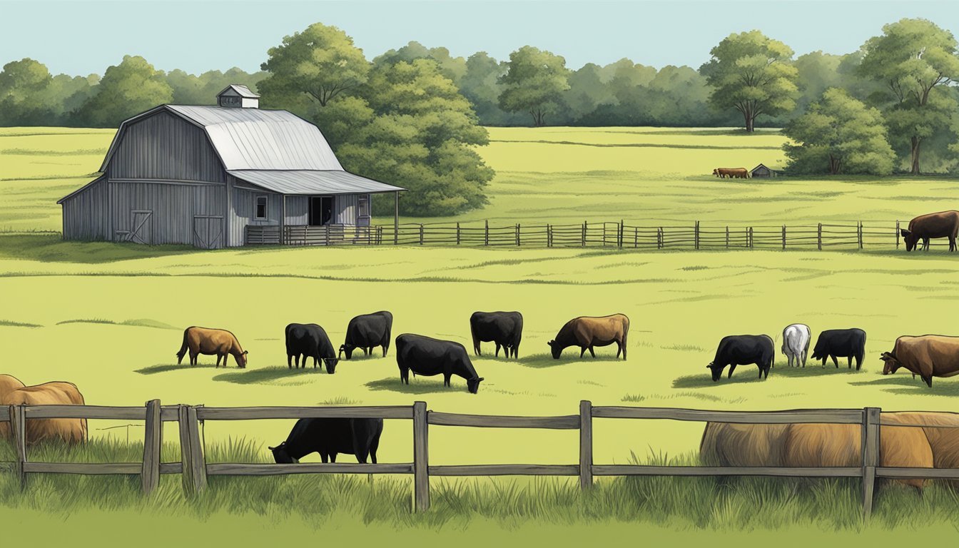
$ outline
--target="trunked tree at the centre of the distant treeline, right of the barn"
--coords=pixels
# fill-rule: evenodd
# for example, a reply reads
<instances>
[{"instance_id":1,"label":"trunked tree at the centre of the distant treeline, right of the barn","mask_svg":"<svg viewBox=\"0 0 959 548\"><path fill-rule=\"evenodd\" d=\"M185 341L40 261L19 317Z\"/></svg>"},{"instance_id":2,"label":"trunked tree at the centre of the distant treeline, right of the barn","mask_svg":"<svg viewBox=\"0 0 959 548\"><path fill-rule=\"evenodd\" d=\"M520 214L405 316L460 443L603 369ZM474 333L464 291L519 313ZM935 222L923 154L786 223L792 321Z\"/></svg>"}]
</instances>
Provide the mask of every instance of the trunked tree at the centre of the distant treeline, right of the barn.
<instances>
[{"instance_id":1,"label":"trunked tree at the centre of the distant treeline, right of the barn","mask_svg":"<svg viewBox=\"0 0 959 548\"><path fill-rule=\"evenodd\" d=\"M562 94L570 88L566 60L548 51L523 46L509 54L500 107L509 112L527 111L536 127L546 125L546 115L562 105Z\"/></svg>"}]
</instances>

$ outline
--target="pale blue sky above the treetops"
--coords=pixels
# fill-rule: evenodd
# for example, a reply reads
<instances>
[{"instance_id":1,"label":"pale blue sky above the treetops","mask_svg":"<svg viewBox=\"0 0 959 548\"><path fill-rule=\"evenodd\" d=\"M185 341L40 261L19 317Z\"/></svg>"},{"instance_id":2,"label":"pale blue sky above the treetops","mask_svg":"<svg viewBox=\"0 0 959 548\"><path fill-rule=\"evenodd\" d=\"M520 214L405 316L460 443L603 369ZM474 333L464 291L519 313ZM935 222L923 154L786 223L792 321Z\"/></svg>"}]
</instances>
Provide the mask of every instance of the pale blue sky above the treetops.
<instances>
[{"instance_id":1,"label":"pale blue sky above the treetops","mask_svg":"<svg viewBox=\"0 0 959 548\"><path fill-rule=\"evenodd\" d=\"M797 55L845 54L903 17L955 33L959 1L0 0L0 64L29 57L54 74L103 74L140 55L167 71L254 71L283 36L322 22L353 36L369 59L416 40L501 60L528 44L573 69L624 57L698 67L736 32L759 29Z\"/></svg>"}]
</instances>

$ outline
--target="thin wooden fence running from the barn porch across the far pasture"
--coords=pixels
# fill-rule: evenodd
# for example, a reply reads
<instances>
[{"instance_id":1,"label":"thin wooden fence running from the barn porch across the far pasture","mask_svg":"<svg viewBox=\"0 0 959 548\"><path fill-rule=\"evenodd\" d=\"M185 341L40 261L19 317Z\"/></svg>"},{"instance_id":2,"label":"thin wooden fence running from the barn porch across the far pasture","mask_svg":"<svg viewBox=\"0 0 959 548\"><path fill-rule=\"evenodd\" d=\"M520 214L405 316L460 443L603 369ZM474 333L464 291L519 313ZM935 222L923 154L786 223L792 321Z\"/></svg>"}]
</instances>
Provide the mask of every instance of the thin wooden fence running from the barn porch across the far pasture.
<instances>
[{"instance_id":1,"label":"thin wooden fence running from the barn porch across the far pasture","mask_svg":"<svg viewBox=\"0 0 959 548\"><path fill-rule=\"evenodd\" d=\"M797 225L628 225L625 221L581 224L431 223L375 226L247 226L246 243L289 246L464 246L618 248L637 250L863 250L897 249L900 221ZM282 236L282 238L281 238ZM931 243L947 245L945 242Z\"/></svg>"}]
</instances>

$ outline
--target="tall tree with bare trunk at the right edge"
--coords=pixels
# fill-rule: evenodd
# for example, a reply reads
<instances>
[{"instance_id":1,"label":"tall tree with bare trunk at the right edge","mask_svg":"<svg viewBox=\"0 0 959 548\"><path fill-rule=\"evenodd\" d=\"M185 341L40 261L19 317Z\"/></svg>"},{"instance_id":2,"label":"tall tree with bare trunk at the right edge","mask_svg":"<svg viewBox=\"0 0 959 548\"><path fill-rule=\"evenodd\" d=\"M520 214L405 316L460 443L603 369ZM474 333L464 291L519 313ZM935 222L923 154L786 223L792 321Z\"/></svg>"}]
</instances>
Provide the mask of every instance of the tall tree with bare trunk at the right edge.
<instances>
[{"instance_id":1,"label":"tall tree with bare trunk at the right edge","mask_svg":"<svg viewBox=\"0 0 959 548\"><path fill-rule=\"evenodd\" d=\"M931 21L901 19L862 50L859 72L885 85L890 133L908 142L910 171L918 175L924 139L947 130L957 107L946 89L959 77L956 39Z\"/></svg>"}]
</instances>

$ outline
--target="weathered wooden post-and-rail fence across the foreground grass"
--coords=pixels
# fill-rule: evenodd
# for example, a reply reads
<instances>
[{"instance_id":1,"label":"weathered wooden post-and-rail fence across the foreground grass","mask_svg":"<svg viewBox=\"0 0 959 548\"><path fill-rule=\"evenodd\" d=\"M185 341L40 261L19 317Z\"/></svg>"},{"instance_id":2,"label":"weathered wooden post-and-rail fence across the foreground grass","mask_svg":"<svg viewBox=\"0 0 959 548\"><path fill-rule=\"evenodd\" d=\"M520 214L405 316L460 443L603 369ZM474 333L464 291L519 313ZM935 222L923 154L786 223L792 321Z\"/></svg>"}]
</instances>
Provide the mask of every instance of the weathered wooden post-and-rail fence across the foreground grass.
<instances>
[{"instance_id":1,"label":"weathered wooden post-and-rail fence across the foreground grass","mask_svg":"<svg viewBox=\"0 0 959 548\"><path fill-rule=\"evenodd\" d=\"M246 464L211 463L204 458L199 432L206 420L254 420L276 418L341 417L406 419L412 422L412 462L398 464ZM27 459L26 420L36 418L102 418L144 421L141 463L35 463ZM596 465L593 463L593 420L595 418L667 419L728 423L828 423L858 424L862 431L859 466L770 467L770 466L683 466L683 465ZM959 468L883 467L879 463L881 426L929 427L925 424L884 422L880 409L810 409L792 411L702 411L654 407L601 407L590 401L579 403L579 413L559 417L508 417L463 415L427 410L423 401L411 406L386 407L204 407L201 405L161 406L151 400L144 407L101 407L91 405L17 405L0 408L0 422L9 421L16 461L7 463L19 477L21 488L34 473L139 475L142 489L150 494L161 474L180 474L185 495L195 496L207 485L208 476L266 476L284 474L411 474L413 510L430 508L431 477L465 476L578 476L579 486L588 489L596 476L768 476L789 478L861 478L863 515L869 517L877 478L959 479ZM180 461L160 462L163 422L176 422L179 431ZM540 428L578 430L579 458L569 465L430 465L431 426L476 428Z\"/></svg>"}]
</instances>

